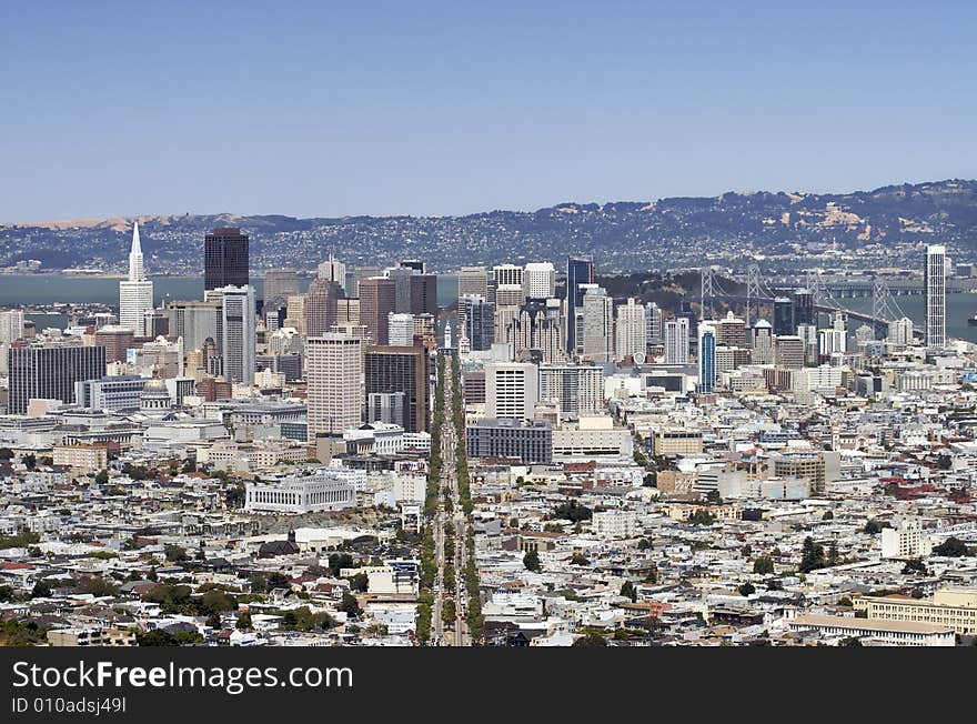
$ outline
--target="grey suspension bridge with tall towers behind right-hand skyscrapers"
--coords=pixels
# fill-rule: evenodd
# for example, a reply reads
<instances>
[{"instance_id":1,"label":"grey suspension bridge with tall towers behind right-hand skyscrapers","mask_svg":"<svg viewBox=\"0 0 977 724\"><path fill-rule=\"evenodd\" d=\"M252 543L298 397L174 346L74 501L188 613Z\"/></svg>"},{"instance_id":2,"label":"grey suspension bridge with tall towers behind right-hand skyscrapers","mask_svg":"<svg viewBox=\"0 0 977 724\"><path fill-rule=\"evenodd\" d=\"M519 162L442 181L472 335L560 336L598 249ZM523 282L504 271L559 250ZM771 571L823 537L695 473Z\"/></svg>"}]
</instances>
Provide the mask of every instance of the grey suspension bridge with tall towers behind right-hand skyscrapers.
<instances>
[{"instance_id":1,"label":"grey suspension bridge with tall towers behind right-hand skyscrapers","mask_svg":"<svg viewBox=\"0 0 977 724\"><path fill-rule=\"evenodd\" d=\"M738 286L744 285L744 281L732 279L732 282ZM834 313L844 312L849 319L858 320L870 324L876 331L885 335L888 332L889 324L903 318L909 318L899 306L896 294L892 292L888 283L882 279L875 279L872 289L872 312L848 309L837 300L833 293L832 286L822 278L819 272L808 272L804 278L800 288L806 289L812 296L813 309L816 312ZM723 288L719 276L712 268L699 269L699 305L703 315L708 305L711 316L715 316L715 302L722 301L726 303L745 303L746 323L751 323L753 319L761 316L761 306L772 304L775 299L790 298L790 293L798 288L798 284L782 288L768 283L761 272L758 264L751 264L746 272L745 290L731 291ZM902 290L900 290L902 291ZM754 314L755 310L755 314ZM911 319L911 318L909 318ZM921 336L924 331L915 321L913 322L913 332Z\"/></svg>"}]
</instances>

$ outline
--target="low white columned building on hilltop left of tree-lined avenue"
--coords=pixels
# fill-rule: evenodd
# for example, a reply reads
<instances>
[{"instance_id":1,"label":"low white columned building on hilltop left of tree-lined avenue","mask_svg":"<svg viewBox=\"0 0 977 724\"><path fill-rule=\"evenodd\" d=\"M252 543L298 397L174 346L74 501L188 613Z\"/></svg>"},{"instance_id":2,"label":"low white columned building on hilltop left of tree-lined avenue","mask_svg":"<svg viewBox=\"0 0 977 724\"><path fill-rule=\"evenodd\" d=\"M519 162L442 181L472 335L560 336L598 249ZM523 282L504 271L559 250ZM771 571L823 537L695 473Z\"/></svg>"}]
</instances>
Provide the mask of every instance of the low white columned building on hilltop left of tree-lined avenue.
<instances>
[{"instance_id":1,"label":"low white columned building on hilltop left of tree-lined avenue","mask_svg":"<svg viewBox=\"0 0 977 724\"><path fill-rule=\"evenodd\" d=\"M328 469L245 485L244 510L249 513L314 513L341 511L355 504L353 483Z\"/></svg>"}]
</instances>

